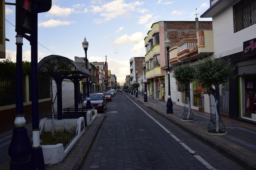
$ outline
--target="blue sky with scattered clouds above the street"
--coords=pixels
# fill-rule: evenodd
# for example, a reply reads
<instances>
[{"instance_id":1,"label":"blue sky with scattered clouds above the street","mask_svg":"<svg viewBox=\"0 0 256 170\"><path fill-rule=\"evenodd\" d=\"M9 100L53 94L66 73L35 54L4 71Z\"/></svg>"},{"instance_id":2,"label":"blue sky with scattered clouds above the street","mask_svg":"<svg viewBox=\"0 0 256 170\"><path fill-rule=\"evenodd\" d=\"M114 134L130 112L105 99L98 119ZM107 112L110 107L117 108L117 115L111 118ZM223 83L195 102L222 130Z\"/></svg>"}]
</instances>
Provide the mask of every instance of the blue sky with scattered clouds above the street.
<instances>
[{"instance_id":1,"label":"blue sky with scattered clouds above the street","mask_svg":"<svg viewBox=\"0 0 256 170\"><path fill-rule=\"evenodd\" d=\"M52 8L38 13L38 62L48 55L71 60L85 57L82 42L89 43L89 62L105 62L125 82L131 57L144 57L144 38L155 22L211 21L200 18L210 0L52 0ZM15 3L15 0L5 0ZM6 57L16 62L15 6L5 5ZM31 61L31 46L23 38L22 58Z\"/></svg>"}]
</instances>

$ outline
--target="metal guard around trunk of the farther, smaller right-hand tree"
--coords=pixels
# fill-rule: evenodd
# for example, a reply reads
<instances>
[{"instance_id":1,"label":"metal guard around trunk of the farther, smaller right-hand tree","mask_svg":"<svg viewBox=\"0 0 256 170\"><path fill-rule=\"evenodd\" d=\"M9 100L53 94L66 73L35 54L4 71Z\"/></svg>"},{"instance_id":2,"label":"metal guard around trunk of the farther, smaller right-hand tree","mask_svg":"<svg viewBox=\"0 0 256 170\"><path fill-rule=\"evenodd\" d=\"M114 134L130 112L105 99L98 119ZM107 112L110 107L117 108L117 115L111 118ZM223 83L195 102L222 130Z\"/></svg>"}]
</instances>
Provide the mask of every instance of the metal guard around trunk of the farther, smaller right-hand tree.
<instances>
[{"instance_id":1,"label":"metal guard around trunk of the farther, smaller right-hand tree","mask_svg":"<svg viewBox=\"0 0 256 170\"><path fill-rule=\"evenodd\" d=\"M181 121L194 121L194 114L191 111L190 89L183 90L184 95L184 112L182 113Z\"/></svg>"}]
</instances>

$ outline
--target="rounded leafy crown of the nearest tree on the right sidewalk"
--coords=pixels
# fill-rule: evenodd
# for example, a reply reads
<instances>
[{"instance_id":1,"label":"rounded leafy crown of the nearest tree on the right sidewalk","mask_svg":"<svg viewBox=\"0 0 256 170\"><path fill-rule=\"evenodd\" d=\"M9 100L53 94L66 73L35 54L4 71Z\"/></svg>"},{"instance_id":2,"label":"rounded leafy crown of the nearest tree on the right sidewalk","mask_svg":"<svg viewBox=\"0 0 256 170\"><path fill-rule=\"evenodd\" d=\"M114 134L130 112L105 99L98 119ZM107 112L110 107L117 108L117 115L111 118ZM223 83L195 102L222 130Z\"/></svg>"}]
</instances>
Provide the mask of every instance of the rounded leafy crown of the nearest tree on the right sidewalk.
<instances>
[{"instance_id":1,"label":"rounded leafy crown of the nearest tree on the right sidewalk","mask_svg":"<svg viewBox=\"0 0 256 170\"><path fill-rule=\"evenodd\" d=\"M195 78L203 88L219 87L231 78L234 69L229 59L207 57L196 64Z\"/></svg>"}]
</instances>

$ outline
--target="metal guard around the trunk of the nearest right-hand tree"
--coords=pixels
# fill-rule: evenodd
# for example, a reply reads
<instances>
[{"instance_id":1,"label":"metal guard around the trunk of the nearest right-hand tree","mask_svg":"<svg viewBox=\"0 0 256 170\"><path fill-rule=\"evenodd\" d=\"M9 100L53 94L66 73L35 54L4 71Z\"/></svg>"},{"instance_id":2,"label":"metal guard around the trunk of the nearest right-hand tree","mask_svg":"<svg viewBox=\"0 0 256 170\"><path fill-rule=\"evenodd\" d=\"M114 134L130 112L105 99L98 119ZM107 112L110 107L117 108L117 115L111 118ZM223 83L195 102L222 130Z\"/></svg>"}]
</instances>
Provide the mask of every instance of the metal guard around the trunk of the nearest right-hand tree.
<instances>
[{"instance_id":1,"label":"metal guard around the trunk of the nearest right-hand tree","mask_svg":"<svg viewBox=\"0 0 256 170\"><path fill-rule=\"evenodd\" d=\"M219 88L208 91L210 103L210 123L207 126L208 135L227 135L225 124L221 120L220 114L220 92Z\"/></svg>"}]
</instances>

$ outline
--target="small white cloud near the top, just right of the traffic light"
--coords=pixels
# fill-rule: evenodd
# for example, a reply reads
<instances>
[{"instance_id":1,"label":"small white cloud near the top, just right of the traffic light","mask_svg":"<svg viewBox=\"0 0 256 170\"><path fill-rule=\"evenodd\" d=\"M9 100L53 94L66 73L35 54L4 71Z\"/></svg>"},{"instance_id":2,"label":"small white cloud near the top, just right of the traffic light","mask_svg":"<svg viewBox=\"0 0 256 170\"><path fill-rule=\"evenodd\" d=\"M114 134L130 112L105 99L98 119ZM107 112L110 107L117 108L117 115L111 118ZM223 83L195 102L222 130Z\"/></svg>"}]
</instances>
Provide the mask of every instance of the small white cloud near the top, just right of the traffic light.
<instances>
[{"instance_id":1,"label":"small white cloud near the top, just right of the traffic light","mask_svg":"<svg viewBox=\"0 0 256 170\"><path fill-rule=\"evenodd\" d=\"M61 8L57 5L52 5L52 8L47 12L46 16L67 17L68 15L74 12L75 10L73 8Z\"/></svg>"}]
</instances>

